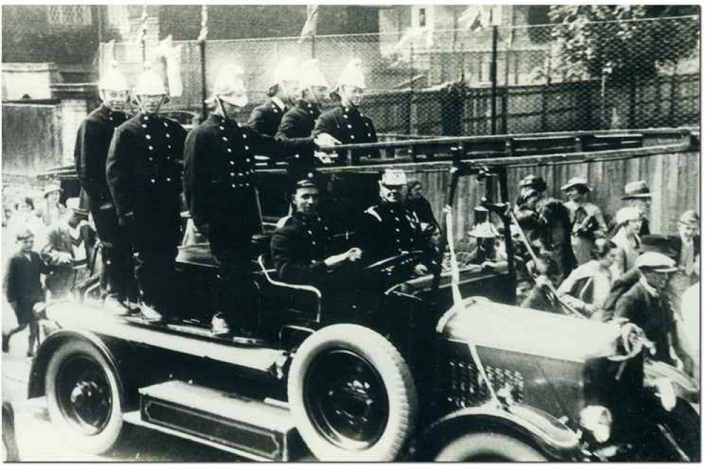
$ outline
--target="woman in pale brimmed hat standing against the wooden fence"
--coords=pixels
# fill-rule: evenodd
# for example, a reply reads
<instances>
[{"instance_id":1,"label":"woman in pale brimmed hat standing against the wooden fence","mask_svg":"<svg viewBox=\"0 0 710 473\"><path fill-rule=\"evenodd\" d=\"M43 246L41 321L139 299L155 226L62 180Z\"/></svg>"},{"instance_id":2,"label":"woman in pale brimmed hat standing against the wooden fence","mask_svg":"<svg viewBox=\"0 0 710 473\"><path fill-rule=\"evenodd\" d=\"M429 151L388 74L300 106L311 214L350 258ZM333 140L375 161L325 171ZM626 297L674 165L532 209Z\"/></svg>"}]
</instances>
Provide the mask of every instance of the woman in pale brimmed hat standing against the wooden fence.
<instances>
[{"instance_id":1,"label":"woman in pale brimmed hat standing against the wooden fence","mask_svg":"<svg viewBox=\"0 0 710 473\"><path fill-rule=\"evenodd\" d=\"M561 187L569 200L564 206L569 210L572 223L572 251L578 265L593 259L594 241L606 237L606 222L598 206L588 202L592 188L583 178L571 178Z\"/></svg>"}]
</instances>

